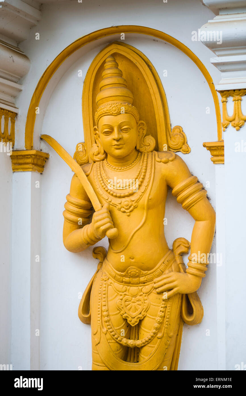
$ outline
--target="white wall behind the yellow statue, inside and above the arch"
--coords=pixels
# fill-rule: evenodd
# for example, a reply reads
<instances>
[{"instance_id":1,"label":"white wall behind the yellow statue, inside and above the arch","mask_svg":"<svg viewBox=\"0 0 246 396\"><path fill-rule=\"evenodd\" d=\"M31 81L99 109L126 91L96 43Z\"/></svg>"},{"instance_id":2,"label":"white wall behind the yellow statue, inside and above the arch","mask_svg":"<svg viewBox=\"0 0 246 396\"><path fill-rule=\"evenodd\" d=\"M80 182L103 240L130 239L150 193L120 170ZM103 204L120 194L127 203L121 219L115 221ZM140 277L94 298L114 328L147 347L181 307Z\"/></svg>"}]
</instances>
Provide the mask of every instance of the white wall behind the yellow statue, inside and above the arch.
<instances>
[{"instance_id":1,"label":"white wall behind the yellow statue, inside and above the arch","mask_svg":"<svg viewBox=\"0 0 246 396\"><path fill-rule=\"evenodd\" d=\"M219 79L218 70L209 62L210 51L201 42L191 40L191 32L214 16L198 1L69 2L45 5L42 14L38 27L31 29L22 46L32 64L29 74L23 78L24 91L17 103L20 107L17 124L21 131L17 136L19 148L23 148L26 112L41 74L62 49L93 30L124 24L162 30L192 49L212 77ZM36 31L40 33L39 41L35 40ZM77 70L82 69L85 76L95 55L111 41L107 38L86 46L83 57L64 74L49 101L42 133L53 136L70 154L73 154L75 145L83 141L81 97L84 78L78 77ZM192 149L190 154L180 156L199 181L203 184L210 182L208 196L215 208L215 168L202 146L204 141L214 141L217 136L214 104L207 82L195 64L169 44L152 37L130 34L126 35L125 42L140 49L158 71L167 95L171 125L182 126ZM167 77L163 77L164 69ZM206 114L206 107L210 107L210 114ZM78 293L84 291L97 263L92 258L92 247L75 254L66 251L62 244L62 211L72 173L45 143L41 143L41 148L50 153L50 159L41 184L40 369L73 370L82 366L84 370L90 370L90 326L82 324L77 316ZM169 247L177 237L190 240L193 219L171 194L166 217ZM214 249L213 245L212 251ZM198 326L184 326L180 370L217 368L214 264L207 271L199 295L205 311L204 319ZM207 329L210 336L206 336Z\"/></svg>"}]
</instances>

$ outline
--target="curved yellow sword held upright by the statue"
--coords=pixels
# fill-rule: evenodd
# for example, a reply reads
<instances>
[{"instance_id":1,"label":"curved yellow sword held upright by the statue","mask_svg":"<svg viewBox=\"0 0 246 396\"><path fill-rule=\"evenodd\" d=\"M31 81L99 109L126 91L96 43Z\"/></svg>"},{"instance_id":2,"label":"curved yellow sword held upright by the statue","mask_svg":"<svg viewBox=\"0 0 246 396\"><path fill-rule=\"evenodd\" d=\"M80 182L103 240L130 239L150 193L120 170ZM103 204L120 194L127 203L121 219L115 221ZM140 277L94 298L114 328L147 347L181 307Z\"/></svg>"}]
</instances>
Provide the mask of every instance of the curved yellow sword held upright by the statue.
<instances>
[{"instance_id":1,"label":"curved yellow sword held upright by the statue","mask_svg":"<svg viewBox=\"0 0 246 396\"><path fill-rule=\"evenodd\" d=\"M59 154L59 156L68 164L68 166L72 169L72 171L77 175L79 181L85 188L85 192L88 195L88 198L90 199L90 202L92 203L93 208L98 211L102 208L98 197L96 196L95 191L92 188L92 185L88 181L85 172L79 164L71 157L70 154L61 146L59 143L53 139L53 137L49 135L41 135L41 139L45 140L56 152ZM118 236L118 229L117 228L111 228L110 230L107 230L106 236L109 239L116 238Z\"/></svg>"}]
</instances>

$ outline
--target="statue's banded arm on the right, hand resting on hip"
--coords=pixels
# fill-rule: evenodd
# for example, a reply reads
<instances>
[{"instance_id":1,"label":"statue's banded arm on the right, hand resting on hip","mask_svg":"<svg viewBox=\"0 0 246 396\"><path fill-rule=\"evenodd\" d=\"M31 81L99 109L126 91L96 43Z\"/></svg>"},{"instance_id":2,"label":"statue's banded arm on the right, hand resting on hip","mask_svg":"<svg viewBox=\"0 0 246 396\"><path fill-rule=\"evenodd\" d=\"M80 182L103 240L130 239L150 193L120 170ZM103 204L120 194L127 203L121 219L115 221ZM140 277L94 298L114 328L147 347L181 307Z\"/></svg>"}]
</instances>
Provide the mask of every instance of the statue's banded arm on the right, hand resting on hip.
<instances>
[{"instance_id":1,"label":"statue's banded arm on the right, hand resting on hip","mask_svg":"<svg viewBox=\"0 0 246 396\"><path fill-rule=\"evenodd\" d=\"M214 237L215 212L206 196L207 191L197 177L192 176L182 158L175 155L173 161L163 164L163 172L167 185L173 189L172 194L195 220L186 273L170 272L155 280L157 292L168 291L168 298L175 293L193 293L200 287Z\"/></svg>"}]
</instances>

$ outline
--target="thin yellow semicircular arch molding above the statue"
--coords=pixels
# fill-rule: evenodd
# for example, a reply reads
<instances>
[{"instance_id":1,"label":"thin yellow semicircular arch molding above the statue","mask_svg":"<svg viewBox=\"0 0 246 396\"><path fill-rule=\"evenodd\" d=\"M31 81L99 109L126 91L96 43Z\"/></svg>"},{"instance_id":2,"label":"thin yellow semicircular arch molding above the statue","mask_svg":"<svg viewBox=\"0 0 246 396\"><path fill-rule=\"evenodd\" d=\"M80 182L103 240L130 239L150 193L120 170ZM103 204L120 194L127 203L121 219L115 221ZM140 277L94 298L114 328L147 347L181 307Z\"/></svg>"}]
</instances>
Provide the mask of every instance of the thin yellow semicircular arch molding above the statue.
<instances>
[{"instance_id":1,"label":"thin yellow semicircular arch molding above the statue","mask_svg":"<svg viewBox=\"0 0 246 396\"><path fill-rule=\"evenodd\" d=\"M200 59L184 44L178 41L176 38L169 36L169 34L163 33L160 30L152 29L149 27L144 26L131 26L131 25L122 25L122 26L113 26L107 27L104 29L96 30L95 32L86 34L78 40L75 40L71 43L68 47L63 49L62 52L51 62L51 64L47 67L43 75L41 76L38 85L32 95L32 99L30 102L30 106L28 109L27 117L26 117L26 129L25 129L25 147L26 150L31 150L33 147L33 133L34 133L34 124L36 119L36 112L35 108L38 107L40 99L43 95L43 92L53 76L54 72L60 67L60 65L67 59L72 53L77 51L77 49L89 44L99 38L105 36L111 36L113 34L120 34L120 33L138 33L138 34L145 34L148 36L152 36L155 38L159 38L169 44L172 44L176 48L180 49L184 52L192 61L197 65L199 70L203 73L203 76L207 80L208 86L212 93L215 105L215 112L216 112L216 120L217 120L217 133L218 133L218 140L222 140L222 126L221 126L221 115L220 115L220 104L217 92L214 88L214 83L212 81L212 77L208 73L208 70L200 61Z\"/></svg>"}]
</instances>

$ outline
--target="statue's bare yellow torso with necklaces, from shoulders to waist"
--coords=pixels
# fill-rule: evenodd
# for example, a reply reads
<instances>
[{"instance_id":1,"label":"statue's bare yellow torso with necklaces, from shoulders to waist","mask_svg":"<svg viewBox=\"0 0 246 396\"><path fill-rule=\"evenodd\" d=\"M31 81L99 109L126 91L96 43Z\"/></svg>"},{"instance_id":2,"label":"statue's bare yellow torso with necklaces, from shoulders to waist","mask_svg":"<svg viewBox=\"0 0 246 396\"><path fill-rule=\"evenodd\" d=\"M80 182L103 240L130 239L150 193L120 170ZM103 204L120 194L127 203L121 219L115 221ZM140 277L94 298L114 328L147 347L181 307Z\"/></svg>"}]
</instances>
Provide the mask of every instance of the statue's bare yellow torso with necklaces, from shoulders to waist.
<instances>
[{"instance_id":1,"label":"statue's bare yellow torso with necklaces, from shoulders to waist","mask_svg":"<svg viewBox=\"0 0 246 396\"><path fill-rule=\"evenodd\" d=\"M141 170L138 175L139 163L122 171L96 163L88 176L101 204L110 204L114 227L119 231L118 237L110 241L107 254L111 265L119 272L131 266L151 270L168 251L163 225L168 187L163 164L156 162L154 153L145 154ZM120 180L122 183L132 181L136 191L130 196L113 196L100 179L111 180L113 187L120 187ZM113 191L122 194L128 190L114 188Z\"/></svg>"}]
</instances>

